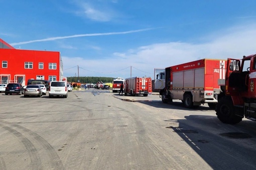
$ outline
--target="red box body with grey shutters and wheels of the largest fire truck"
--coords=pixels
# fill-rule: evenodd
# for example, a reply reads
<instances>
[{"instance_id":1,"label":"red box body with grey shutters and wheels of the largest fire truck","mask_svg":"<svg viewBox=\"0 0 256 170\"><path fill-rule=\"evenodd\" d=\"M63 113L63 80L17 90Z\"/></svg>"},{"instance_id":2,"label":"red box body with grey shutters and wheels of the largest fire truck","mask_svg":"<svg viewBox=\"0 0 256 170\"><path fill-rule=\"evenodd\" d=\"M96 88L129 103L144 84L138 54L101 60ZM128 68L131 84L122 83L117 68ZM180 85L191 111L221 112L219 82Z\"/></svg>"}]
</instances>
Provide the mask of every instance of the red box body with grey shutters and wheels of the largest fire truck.
<instances>
[{"instance_id":1,"label":"red box body with grey shutters and wheels of the largest fire truck","mask_svg":"<svg viewBox=\"0 0 256 170\"><path fill-rule=\"evenodd\" d=\"M215 108L223 95L220 82L225 79L226 60L200 59L165 68L165 87L159 91L167 103L180 99L187 108L208 103Z\"/></svg>"}]
</instances>

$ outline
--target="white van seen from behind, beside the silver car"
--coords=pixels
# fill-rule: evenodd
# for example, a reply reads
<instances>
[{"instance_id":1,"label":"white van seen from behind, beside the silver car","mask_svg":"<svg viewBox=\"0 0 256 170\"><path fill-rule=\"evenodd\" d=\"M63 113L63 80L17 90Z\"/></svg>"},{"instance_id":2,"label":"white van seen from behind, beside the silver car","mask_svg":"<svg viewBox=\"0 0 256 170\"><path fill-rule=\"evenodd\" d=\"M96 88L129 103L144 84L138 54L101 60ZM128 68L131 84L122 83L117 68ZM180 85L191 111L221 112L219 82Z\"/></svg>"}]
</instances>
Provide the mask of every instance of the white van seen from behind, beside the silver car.
<instances>
[{"instance_id":1,"label":"white van seen from behind, beside the silver car","mask_svg":"<svg viewBox=\"0 0 256 170\"><path fill-rule=\"evenodd\" d=\"M49 98L52 96L63 96L67 98L68 89L66 81L51 81L49 87Z\"/></svg>"}]
</instances>

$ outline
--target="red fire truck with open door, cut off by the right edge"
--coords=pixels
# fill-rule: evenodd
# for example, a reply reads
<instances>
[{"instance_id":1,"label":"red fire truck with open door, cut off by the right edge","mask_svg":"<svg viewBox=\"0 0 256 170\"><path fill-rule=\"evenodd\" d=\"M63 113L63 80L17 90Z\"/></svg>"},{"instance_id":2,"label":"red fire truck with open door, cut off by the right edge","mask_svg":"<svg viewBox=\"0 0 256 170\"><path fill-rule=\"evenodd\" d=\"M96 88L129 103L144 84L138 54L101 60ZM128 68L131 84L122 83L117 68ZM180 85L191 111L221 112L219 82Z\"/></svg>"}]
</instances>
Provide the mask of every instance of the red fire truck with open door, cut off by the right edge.
<instances>
[{"instance_id":1,"label":"red fire truck with open door, cut off by the right edge","mask_svg":"<svg viewBox=\"0 0 256 170\"><path fill-rule=\"evenodd\" d=\"M225 96L216 107L220 121L235 124L243 117L256 120L256 54L227 59L223 88Z\"/></svg>"}]
</instances>

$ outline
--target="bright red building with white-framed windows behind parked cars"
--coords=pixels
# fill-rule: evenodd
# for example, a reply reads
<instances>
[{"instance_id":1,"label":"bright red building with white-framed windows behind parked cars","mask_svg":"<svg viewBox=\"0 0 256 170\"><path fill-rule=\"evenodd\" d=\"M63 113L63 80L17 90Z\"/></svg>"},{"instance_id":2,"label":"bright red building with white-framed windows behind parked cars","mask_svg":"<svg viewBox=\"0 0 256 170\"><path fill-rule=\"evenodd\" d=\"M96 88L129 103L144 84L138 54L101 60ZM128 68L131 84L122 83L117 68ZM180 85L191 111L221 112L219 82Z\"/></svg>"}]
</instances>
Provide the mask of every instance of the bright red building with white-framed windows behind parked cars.
<instances>
[{"instance_id":1,"label":"bright red building with white-framed windows behind parked cars","mask_svg":"<svg viewBox=\"0 0 256 170\"><path fill-rule=\"evenodd\" d=\"M15 49L0 39L0 83L20 82L28 79L66 80L60 52Z\"/></svg>"}]
</instances>

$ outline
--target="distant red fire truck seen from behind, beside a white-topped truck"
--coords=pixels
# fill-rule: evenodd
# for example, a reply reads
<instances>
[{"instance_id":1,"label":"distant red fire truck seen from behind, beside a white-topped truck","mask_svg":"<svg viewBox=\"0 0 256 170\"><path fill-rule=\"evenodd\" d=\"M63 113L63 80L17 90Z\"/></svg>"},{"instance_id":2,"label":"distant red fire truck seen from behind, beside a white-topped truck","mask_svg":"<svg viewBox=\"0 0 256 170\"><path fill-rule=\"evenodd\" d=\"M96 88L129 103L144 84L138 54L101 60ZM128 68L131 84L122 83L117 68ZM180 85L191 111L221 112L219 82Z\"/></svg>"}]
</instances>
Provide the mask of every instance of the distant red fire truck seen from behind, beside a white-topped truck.
<instances>
[{"instance_id":1,"label":"distant red fire truck seen from behind, beside a white-topped truck","mask_svg":"<svg viewBox=\"0 0 256 170\"><path fill-rule=\"evenodd\" d=\"M152 93L151 77L131 77L124 80L124 95L143 94L148 96Z\"/></svg>"}]
</instances>

